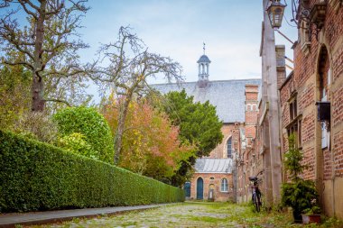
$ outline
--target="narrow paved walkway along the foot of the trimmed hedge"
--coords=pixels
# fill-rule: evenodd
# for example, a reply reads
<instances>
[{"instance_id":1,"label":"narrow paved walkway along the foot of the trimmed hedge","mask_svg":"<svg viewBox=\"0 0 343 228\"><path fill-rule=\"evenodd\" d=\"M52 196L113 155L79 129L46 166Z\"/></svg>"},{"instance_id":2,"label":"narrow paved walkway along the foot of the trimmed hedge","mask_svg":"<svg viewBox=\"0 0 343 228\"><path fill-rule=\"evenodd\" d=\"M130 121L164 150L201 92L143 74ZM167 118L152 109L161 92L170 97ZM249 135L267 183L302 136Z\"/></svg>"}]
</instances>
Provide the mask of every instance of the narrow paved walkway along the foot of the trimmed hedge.
<instances>
[{"instance_id":1,"label":"narrow paved walkway along the foot of the trimmed hedge","mask_svg":"<svg viewBox=\"0 0 343 228\"><path fill-rule=\"evenodd\" d=\"M10 213L0 214L0 227L14 227L15 224L43 224L56 223L60 221L72 220L76 217L94 217L101 214L118 214L122 212L144 210L163 205L134 205L134 206L116 206L103 208L85 208L74 210L59 210L47 212L30 212L30 213Z\"/></svg>"}]
</instances>

